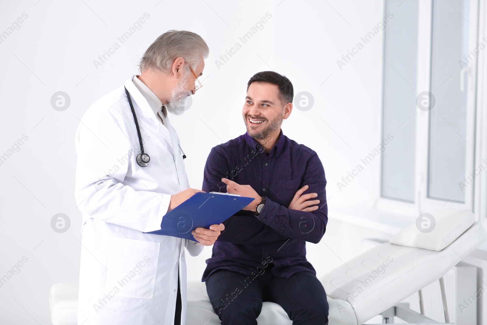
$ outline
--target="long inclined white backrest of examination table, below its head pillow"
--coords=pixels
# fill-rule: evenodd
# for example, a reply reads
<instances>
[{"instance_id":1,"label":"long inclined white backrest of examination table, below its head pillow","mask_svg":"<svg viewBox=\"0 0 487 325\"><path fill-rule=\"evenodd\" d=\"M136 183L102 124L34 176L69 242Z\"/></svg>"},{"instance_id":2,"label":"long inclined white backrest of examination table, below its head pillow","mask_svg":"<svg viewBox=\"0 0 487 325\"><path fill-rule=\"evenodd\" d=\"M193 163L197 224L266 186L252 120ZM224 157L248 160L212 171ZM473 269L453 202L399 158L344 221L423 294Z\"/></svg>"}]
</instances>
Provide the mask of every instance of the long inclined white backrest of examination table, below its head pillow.
<instances>
[{"instance_id":1,"label":"long inclined white backrest of examination table, below its head pillow","mask_svg":"<svg viewBox=\"0 0 487 325\"><path fill-rule=\"evenodd\" d=\"M363 324L437 281L486 240L486 229L474 222L449 247L440 251L384 243L319 280L330 298L349 302L358 324Z\"/></svg>"}]
</instances>

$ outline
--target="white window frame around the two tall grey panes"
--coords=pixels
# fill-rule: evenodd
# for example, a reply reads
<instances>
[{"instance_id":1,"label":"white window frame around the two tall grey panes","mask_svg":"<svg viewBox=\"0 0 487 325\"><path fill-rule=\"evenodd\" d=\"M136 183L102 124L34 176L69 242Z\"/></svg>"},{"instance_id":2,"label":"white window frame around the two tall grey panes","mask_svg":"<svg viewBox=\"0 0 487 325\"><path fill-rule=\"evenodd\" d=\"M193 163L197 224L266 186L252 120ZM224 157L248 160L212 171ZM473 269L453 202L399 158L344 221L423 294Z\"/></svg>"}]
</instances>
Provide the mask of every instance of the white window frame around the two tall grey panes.
<instances>
[{"instance_id":1,"label":"white window frame around the two tall grey panes","mask_svg":"<svg viewBox=\"0 0 487 325\"><path fill-rule=\"evenodd\" d=\"M486 0L473 0L470 6L470 18L477 20L476 39L470 39L469 49L473 49L472 41L475 46L482 37L487 38L486 28ZM418 53L417 53L417 76L416 76L416 94L422 91L431 91L431 40L432 40L432 14L433 0L419 1L418 3ZM383 12L386 11L386 1L383 1ZM476 17L474 17L476 15ZM470 34L471 35L471 34ZM385 51L385 38L383 37L382 55ZM487 45L487 42L484 42ZM474 46L474 47L475 47ZM468 143L472 144L474 149L466 146L466 175L474 172L474 169L483 163L482 159L487 161L487 48L480 51L472 64L474 77L468 78L468 87L473 87L473 94L468 94L467 107L467 138ZM384 62L382 63L382 94L381 94L381 114L384 115ZM423 73L427 72L427 73ZM472 103L473 101L473 103ZM404 215L416 217L423 212L431 212L440 209L468 209L472 210L479 221L487 221L487 170L480 173L474 179L473 186L465 188L465 203L434 199L428 197L428 168L429 168L429 138L430 138L430 112L416 110L416 132L415 132L415 180L414 180L414 202L403 201L382 196L382 188L379 186L378 199L374 207L379 210L391 211ZM383 120L381 136L383 137ZM423 139L428 139L424 141ZM482 148L484 144L485 148ZM487 164L484 163L487 167ZM382 153L380 159L380 168L378 175L382 174ZM382 184L380 177L377 177L379 184Z\"/></svg>"}]
</instances>

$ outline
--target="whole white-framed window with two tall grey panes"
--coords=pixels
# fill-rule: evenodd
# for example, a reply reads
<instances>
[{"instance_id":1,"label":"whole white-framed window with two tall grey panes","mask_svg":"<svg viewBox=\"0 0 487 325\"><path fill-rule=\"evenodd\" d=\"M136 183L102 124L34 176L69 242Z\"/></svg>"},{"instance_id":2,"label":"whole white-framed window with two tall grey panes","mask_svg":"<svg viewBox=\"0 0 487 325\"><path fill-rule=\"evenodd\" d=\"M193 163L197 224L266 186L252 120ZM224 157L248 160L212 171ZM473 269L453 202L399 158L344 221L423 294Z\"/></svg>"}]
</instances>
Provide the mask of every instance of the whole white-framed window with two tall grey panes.
<instances>
[{"instance_id":1,"label":"whole white-framed window with two tall grey panes","mask_svg":"<svg viewBox=\"0 0 487 325\"><path fill-rule=\"evenodd\" d=\"M485 155L476 143L485 137L476 134L479 1L385 0L384 6L394 18L382 55L382 134L394 140L382 153L377 208L411 215L474 210L475 198L486 199L475 185L480 177L471 177Z\"/></svg>"}]
</instances>

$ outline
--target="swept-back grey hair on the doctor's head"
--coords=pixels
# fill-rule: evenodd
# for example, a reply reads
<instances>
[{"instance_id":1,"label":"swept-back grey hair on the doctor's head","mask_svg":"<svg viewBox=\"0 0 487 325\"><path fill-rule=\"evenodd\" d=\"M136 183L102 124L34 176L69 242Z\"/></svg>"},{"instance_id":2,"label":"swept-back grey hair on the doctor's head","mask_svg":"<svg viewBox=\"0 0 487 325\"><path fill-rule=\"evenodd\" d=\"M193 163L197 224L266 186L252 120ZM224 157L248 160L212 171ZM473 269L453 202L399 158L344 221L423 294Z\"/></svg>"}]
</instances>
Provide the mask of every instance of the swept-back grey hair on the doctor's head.
<instances>
[{"instance_id":1,"label":"swept-back grey hair on the doctor's head","mask_svg":"<svg viewBox=\"0 0 487 325\"><path fill-rule=\"evenodd\" d=\"M196 33L170 30L159 36L142 56L139 63L140 72L147 69L170 71L172 63L183 57L193 70L200 57L208 57L209 48L205 40Z\"/></svg>"}]
</instances>

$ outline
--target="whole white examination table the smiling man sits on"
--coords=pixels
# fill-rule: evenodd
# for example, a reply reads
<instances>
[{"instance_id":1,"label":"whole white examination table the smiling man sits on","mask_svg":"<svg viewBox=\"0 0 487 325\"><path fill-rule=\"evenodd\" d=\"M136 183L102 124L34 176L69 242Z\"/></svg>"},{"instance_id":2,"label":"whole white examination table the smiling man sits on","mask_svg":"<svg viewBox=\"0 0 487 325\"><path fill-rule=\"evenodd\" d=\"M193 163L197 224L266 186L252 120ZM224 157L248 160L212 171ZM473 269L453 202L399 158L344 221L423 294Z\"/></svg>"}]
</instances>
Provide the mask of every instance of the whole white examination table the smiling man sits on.
<instances>
[{"instance_id":1,"label":"whole white examination table the smiling man sits on","mask_svg":"<svg viewBox=\"0 0 487 325\"><path fill-rule=\"evenodd\" d=\"M370 249L319 279L327 293L329 325L360 325L379 314L386 318L395 314L411 324L439 324L398 303L442 278L487 240L487 232L468 210L444 209L433 215L436 228L430 233L411 225L391 239L396 244ZM425 246L430 249L418 248ZM375 272L381 265L384 271ZM77 283L54 285L53 325L75 325L76 305ZM281 306L270 302L263 303L257 320L260 325L292 324ZM220 325L205 283L188 282L186 324Z\"/></svg>"}]
</instances>

